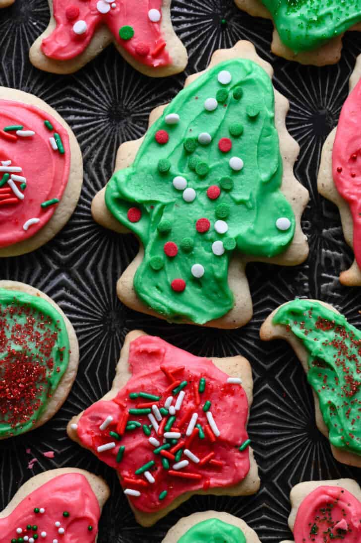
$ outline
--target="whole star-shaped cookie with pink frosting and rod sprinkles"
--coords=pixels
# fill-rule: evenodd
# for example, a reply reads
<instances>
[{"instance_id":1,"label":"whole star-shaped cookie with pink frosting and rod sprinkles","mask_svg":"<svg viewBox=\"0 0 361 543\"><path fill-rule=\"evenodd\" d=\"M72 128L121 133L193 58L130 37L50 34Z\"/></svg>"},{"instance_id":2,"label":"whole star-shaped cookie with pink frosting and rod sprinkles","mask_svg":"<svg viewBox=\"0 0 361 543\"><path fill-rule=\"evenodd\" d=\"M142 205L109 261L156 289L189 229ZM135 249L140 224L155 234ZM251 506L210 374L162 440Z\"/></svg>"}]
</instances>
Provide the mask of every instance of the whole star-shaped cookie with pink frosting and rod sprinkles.
<instances>
[{"instance_id":1,"label":"whole star-shaped cookie with pink frosting and rod sprinkles","mask_svg":"<svg viewBox=\"0 0 361 543\"><path fill-rule=\"evenodd\" d=\"M117 471L137 522L151 526L193 494L257 492L251 402L242 356L209 360L133 331L112 389L67 432Z\"/></svg>"}]
</instances>

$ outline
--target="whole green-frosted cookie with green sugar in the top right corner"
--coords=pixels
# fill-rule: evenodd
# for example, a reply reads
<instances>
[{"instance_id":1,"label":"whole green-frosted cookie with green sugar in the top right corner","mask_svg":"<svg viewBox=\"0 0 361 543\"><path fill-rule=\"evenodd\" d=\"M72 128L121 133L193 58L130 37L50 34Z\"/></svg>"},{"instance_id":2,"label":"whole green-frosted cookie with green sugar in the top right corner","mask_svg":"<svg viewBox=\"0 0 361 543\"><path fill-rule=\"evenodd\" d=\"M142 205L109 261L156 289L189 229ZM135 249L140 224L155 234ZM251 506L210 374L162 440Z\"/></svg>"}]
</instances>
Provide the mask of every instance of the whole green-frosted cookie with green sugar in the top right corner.
<instances>
[{"instance_id":1,"label":"whole green-frosted cookie with green sugar in the top right corner","mask_svg":"<svg viewBox=\"0 0 361 543\"><path fill-rule=\"evenodd\" d=\"M360 0L235 0L240 9L273 20L272 51L301 64L335 64L347 30L361 30Z\"/></svg>"}]
</instances>

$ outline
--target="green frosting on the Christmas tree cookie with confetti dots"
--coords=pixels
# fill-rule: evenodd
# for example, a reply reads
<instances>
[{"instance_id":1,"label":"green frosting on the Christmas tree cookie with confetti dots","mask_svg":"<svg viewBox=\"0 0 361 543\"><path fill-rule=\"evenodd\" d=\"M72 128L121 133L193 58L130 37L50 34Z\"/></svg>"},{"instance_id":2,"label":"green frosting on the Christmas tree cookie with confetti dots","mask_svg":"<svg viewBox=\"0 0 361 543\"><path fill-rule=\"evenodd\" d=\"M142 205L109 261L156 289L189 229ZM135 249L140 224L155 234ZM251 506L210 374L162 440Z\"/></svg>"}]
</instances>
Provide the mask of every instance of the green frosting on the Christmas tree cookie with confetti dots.
<instances>
[{"instance_id":1,"label":"green frosting on the Christmas tree cookie with confetti dots","mask_svg":"<svg viewBox=\"0 0 361 543\"><path fill-rule=\"evenodd\" d=\"M219 82L221 71L229 72L230 83ZM216 96L221 102L207 110L206 100ZM170 113L179 115L178 123L167 124ZM168 133L167 143L157 143L159 130ZM209 143L199 142L203 132L212 138ZM231 143L229 151L220 150L221 138ZM242 169L231 167L232 157L243 160ZM174 187L176 176L186 180L186 191L195 191L193 201ZM273 257L292 242L295 218L281 181L268 74L255 62L233 59L188 85L149 128L132 166L116 172L106 188L106 206L144 245L134 279L138 298L173 321L204 324L225 315L233 307L227 281L233 253ZM219 196L208 196L209 187L220 190ZM134 206L141 211L137 222L128 217ZM276 226L280 217L288 219L286 230ZM205 232L197 231L201 218L210 223ZM216 231L217 220L227 223L227 232ZM213 252L216 241L221 255ZM164 252L167 242L176 244L176 256ZM203 276L192 274L194 264L201 264ZM185 282L182 292L172 289L175 279Z\"/></svg>"}]
</instances>

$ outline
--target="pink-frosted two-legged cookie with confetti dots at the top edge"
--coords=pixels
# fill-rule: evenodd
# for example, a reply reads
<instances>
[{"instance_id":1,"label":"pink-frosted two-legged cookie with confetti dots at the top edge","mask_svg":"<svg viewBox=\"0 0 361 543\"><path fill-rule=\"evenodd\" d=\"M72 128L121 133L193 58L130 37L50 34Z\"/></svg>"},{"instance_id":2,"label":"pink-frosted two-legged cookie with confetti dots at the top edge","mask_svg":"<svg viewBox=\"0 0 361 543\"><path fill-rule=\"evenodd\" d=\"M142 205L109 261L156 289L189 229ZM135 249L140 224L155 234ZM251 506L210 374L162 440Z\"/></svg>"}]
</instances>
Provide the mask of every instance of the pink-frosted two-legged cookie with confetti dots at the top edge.
<instances>
[{"instance_id":1,"label":"pink-frosted two-legged cookie with confetti dots at the top edge","mask_svg":"<svg viewBox=\"0 0 361 543\"><path fill-rule=\"evenodd\" d=\"M73 73L113 42L151 77L181 72L187 52L170 21L171 0L48 0L48 28L30 49L37 68Z\"/></svg>"}]
</instances>

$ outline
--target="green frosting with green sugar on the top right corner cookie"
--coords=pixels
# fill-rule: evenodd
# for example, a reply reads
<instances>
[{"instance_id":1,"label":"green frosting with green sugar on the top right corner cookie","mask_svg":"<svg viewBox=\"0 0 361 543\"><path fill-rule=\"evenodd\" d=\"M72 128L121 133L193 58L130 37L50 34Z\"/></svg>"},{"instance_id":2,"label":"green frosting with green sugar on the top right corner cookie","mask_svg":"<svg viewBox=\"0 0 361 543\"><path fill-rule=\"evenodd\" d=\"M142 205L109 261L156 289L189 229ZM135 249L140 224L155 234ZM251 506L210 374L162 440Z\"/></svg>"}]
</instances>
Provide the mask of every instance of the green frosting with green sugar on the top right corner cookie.
<instances>
[{"instance_id":1,"label":"green frosting with green sugar on the top right corner cookie","mask_svg":"<svg viewBox=\"0 0 361 543\"><path fill-rule=\"evenodd\" d=\"M361 21L361 0L261 0L281 41L295 53L317 49Z\"/></svg>"}]
</instances>

